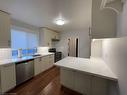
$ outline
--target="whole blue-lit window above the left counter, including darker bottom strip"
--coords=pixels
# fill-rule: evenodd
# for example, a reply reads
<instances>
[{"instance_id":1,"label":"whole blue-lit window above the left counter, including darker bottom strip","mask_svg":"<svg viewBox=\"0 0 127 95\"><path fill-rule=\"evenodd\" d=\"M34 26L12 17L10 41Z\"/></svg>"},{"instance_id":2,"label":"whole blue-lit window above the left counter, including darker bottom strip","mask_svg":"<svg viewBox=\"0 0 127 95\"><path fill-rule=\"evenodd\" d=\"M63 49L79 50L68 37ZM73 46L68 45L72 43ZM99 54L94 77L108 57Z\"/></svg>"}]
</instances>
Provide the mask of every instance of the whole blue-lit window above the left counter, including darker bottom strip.
<instances>
[{"instance_id":1,"label":"whole blue-lit window above the left counter, including darker bottom strip","mask_svg":"<svg viewBox=\"0 0 127 95\"><path fill-rule=\"evenodd\" d=\"M22 55L31 55L37 52L38 33L25 29L11 29L12 56L18 56L18 49L22 48Z\"/></svg>"}]
</instances>

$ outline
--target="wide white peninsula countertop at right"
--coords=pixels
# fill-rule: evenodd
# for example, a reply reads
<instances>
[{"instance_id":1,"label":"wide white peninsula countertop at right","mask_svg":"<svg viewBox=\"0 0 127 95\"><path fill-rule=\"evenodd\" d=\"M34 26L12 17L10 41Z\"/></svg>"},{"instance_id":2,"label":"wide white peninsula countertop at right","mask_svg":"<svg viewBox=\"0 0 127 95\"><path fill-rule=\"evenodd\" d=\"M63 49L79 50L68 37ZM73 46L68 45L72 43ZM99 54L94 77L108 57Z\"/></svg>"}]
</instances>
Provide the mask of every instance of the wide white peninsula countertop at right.
<instances>
[{"instance_id":1,"label":"wide white peninsula countertop at right","mask_svg":"<svg viewBox=\"0 0 127 95\"><path fill-rule=\"evenodd\" d=\"M66 57L55 63L56 66L81 71L93 76L98 76L108 80L117 81L118 78L100 58L76 58Z\"/></svg>"}]
</instances>

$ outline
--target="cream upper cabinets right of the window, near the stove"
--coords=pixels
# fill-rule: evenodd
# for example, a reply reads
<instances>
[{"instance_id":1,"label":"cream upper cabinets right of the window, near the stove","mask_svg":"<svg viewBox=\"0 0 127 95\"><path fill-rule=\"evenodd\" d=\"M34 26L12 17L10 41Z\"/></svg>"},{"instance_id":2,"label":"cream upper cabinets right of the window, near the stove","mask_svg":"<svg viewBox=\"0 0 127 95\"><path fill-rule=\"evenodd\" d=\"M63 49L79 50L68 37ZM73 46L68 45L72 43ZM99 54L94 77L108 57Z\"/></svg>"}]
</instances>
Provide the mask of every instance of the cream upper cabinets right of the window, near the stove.
<instances>
[{"instance_id":1,"label":"cream upper cabinets right of the window, near the stove","mask_svg":"<svg viewBox=\"0 0 127 95\"><path fill-rule=\"evenodd\" d=\"M51 29L40 28L39 32L39 46L52 47L52 39L58 39L59 34Z\"/></svg>"}]
</instances>

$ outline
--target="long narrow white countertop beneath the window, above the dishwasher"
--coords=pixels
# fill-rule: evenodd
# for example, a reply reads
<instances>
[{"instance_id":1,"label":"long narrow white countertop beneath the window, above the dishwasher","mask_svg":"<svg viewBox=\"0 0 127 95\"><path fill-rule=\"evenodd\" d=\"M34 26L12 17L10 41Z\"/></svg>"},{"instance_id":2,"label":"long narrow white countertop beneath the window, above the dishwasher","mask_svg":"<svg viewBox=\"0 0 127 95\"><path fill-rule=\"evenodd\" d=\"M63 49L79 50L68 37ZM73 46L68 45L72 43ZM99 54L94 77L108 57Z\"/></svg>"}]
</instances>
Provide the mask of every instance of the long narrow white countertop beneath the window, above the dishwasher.
<instances>
[{"instance_id":1,"label":"long narrow white countertop beneath the window, above the dishwasher","mask_svg":"<svg viewBox=\"0 0 127 95\"><path fill-rule=\"evenodd\" d=\"M43 56L47 56L47 55L52 55L54 53L44 53L44 54L40 54L40 56L25 56L22 58L12 58L12 59L4 59L4 60L0 60L0 65L8 65L8 64L14 64L17 62L22 62L22 61L27 61L27 60L31 60L31 59L36 59L39 57L43 57Z\"/></svg>"}]
</instances>

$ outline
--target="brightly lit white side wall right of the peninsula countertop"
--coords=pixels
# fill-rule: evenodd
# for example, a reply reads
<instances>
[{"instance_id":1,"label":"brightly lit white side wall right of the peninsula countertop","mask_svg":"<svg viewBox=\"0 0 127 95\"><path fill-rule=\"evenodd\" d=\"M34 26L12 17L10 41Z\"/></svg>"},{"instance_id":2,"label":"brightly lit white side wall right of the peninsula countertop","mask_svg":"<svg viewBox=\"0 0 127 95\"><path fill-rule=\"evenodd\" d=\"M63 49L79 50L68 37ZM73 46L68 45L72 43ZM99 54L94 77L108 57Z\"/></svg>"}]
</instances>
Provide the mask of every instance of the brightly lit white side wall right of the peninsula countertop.
<instances>
[{"instance_id":1,"label":"brightly lit white side wall right of the peninsula countertop","mask_svg":"<svg viewBox=\"0 0 127 95\"><path fill-rule=\"evenodd\" d=\"M127 95L127 37L103 40L103 59L118 76L120 95Z\"/></svg>"}]
</instances>

